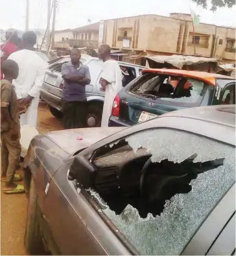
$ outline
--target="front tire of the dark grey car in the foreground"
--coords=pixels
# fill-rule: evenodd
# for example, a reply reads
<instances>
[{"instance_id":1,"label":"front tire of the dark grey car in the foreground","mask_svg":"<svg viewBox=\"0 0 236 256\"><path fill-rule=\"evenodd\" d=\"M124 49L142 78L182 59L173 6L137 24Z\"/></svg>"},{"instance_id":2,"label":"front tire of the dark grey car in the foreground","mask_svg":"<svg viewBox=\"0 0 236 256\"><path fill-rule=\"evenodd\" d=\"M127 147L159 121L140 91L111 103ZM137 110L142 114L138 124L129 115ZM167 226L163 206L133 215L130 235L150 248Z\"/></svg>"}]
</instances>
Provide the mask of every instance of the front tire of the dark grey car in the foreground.
<instances>
[{"instance_id":1,"label":"front tire of the dark grey car in the foreground","mask_svg":"<svg viewBox=\"0 0 236 256\"><path fill-rule=\"evenodd\" d=\"M31 179L25 228L25 249L30 255L46 255L38 219L38 196L34 179Z\"/></svg>"}]
</instances>

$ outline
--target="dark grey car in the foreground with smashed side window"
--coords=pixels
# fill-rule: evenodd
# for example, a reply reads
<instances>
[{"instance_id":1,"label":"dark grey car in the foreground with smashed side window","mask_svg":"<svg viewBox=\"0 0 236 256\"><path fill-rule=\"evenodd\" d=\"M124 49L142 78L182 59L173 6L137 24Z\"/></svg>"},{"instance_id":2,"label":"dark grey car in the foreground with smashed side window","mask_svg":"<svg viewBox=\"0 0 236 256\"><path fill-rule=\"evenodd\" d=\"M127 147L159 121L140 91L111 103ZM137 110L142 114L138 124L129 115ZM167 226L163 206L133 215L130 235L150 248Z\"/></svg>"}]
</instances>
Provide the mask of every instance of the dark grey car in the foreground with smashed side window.
<instances>
[{"instance_id":1,"label":"dark grey car in the foreground with smashed side window","mask_svg":"<svg viewBox=\"0 0 236 256\"><path fill-rule=\"evenodd\" d=\"M30 255L235 255L235 106L39 134Z\"/></svg>"}]
</instances>

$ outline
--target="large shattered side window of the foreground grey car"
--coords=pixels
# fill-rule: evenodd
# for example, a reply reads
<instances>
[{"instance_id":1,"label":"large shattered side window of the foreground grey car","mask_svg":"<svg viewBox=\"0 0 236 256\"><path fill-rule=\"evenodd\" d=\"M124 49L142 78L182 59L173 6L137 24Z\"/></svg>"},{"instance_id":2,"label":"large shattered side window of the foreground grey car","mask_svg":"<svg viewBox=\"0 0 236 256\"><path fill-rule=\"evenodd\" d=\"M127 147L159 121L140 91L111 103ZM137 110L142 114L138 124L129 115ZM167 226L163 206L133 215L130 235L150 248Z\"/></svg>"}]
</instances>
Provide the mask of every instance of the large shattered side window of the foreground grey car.
<instances>
[{"instance_id":1,"label":"large shattered side window of the foreground grey car","mask_svg":"<svg viewBox=\"0 0 236 256\"><path fill-rule=\"evenodd\" d=\"M141 255L180 255L235 183L235 147L151 129L95 152L102 212Z\"/></svg>"}]
</instances>

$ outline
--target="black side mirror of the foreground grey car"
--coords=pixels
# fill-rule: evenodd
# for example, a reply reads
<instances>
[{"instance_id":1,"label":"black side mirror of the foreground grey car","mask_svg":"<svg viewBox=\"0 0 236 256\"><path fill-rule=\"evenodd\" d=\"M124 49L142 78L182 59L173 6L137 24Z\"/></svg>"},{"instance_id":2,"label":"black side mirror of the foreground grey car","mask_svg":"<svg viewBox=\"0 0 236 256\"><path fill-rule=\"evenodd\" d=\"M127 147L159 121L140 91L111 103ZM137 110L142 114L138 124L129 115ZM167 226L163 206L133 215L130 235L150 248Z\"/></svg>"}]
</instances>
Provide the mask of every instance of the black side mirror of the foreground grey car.
<instances>
[{"instance_id":1,"label":"black side mirror of the foreground grey car","mask_svg":"<svg viewBox=\"0 0 236 256\"><path fill-rule=\"evenodd\" d=\"M71 164L68 179L77 179L83 188L90 188L95 178L95 166L91 164L85 157L77 155Z\"/></svg>"}]
</instances>

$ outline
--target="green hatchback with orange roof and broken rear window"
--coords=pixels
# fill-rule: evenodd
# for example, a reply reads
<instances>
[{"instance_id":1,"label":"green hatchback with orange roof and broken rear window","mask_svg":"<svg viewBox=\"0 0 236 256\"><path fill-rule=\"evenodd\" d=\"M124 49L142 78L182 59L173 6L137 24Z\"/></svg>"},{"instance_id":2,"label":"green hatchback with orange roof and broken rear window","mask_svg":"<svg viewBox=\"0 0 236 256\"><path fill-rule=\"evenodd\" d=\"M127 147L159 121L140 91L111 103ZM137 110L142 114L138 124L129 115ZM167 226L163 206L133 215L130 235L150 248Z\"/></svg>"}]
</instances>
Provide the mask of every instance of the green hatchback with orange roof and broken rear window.
<instances>
[{"instance_id":1,"label":"green hatchback with orange roof and broken rear window","mask_svg":"<svg viewBox=\"0 0 236 256\"><path fill-rule=\"evenodd\" d=\"M235 79L187 70L148 69L113 101L109 126L130 126L173 110L235 104Z\"/></svg>"}]
</instances>

